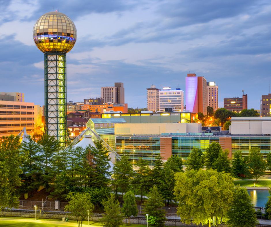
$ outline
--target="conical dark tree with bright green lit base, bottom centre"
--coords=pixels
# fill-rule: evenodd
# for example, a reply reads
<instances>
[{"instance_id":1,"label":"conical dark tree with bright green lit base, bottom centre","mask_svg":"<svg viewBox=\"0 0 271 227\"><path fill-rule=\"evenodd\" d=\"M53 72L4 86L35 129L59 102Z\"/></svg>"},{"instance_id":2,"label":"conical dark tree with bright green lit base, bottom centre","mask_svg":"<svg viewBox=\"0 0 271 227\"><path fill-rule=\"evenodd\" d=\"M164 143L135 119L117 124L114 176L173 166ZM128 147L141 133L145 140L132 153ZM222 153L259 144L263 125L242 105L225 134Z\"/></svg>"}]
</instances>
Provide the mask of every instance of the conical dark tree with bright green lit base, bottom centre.
<instances>
[{"instance_id":1,"label":"conical dark tree with bright green lit base, bottom centre","mask_svg":"<svg viewBox=\"0 0 271 227\"><path fill-rule=\"evenodd\" d=\"M144 202L143 212L149 215L149 226L160 227L165 223L164 198L159 193L157 186L153 186L148 194L148 200Z\"/></svg>"}]
</instances>

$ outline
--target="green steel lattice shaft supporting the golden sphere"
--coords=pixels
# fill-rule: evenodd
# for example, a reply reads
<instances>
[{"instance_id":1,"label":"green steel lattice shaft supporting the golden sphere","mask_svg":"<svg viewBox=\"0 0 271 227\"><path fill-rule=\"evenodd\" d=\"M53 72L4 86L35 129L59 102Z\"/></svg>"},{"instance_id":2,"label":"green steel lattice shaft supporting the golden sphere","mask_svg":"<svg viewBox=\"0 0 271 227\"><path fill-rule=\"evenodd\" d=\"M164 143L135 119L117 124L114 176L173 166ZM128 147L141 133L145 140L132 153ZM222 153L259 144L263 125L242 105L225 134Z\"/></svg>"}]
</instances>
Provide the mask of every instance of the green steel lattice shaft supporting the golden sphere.
<instances>
[{"instance_id":1,"label":"green steel lattice shaft supporting the golden sphere","mask_svg":"<svg viewBox=\"0 0 271 227\"><path fill-rule=\"evenodd\" d=\"M66 53L45 52L45 129L61 145L69 141L66 110Z\"/></svg>"}]
</instances>

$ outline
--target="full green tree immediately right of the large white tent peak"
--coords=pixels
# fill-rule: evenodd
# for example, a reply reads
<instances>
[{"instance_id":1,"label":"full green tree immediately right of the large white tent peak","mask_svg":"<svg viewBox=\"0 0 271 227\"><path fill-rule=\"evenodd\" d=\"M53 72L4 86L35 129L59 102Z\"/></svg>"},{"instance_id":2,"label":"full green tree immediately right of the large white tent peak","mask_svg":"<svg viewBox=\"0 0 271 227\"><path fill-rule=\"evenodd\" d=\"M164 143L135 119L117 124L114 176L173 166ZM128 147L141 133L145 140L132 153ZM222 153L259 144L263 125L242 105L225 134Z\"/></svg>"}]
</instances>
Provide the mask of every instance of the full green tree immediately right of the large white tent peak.
<instances>
[{"instance_id":1,"label":"full green tree immediately right of the large white tent peak","mask_svg":"<svg viewBox=\"0 0 271 227\"><path fill-rule=\"evenodd\" d=\"M115 192L120 191L122 194L128 192L134 175L133 166L129 161L129 157L127 155L121 156L121 160L115 163L113 170Z\"/></svg>"}]
</instances>

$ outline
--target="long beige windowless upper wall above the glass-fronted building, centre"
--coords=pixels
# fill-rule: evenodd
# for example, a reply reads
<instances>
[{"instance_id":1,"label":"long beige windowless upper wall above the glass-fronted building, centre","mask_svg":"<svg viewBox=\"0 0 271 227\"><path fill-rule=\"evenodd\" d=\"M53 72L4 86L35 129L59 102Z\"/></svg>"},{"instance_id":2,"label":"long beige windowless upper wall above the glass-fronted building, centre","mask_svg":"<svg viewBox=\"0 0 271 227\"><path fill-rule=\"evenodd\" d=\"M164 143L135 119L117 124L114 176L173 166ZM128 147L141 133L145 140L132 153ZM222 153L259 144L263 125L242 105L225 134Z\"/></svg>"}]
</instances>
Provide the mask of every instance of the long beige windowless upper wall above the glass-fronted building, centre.
<instances>
[{"instance_id":1,"label":"long beige windowless upper wall above the glass-fronted building, centre","mask_svg":"<svg viewBox=\"0 0 271 227\"><path fill-rule=\"evenodd\" d=\"M161 135L161 133L200 133L198 123L115 124L115 135Z\"/></svg>"}]
</instances>

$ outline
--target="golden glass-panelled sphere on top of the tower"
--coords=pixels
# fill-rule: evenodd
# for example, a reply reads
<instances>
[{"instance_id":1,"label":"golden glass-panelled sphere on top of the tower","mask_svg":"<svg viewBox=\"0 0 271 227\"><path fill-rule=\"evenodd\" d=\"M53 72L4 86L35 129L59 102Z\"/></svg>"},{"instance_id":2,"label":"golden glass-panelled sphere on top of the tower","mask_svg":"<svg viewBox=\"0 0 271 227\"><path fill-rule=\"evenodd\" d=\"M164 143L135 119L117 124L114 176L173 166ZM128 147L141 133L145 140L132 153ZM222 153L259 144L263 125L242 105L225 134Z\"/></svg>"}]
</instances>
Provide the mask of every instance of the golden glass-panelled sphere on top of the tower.
<instances>
[{"instance_id":1,"label":"golden glass-panelled sphere on top of the tower","mask_svg":"<svg viewBox=\"0 0 271 227\"><path fill-rule=\"evenodd\" d=\"M76 42L77 31L74 22L63 13L43 14L35 23L33 38L42 52L69 52Z\"/></svg>"}]
</instances>

